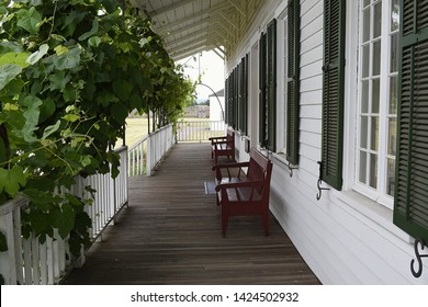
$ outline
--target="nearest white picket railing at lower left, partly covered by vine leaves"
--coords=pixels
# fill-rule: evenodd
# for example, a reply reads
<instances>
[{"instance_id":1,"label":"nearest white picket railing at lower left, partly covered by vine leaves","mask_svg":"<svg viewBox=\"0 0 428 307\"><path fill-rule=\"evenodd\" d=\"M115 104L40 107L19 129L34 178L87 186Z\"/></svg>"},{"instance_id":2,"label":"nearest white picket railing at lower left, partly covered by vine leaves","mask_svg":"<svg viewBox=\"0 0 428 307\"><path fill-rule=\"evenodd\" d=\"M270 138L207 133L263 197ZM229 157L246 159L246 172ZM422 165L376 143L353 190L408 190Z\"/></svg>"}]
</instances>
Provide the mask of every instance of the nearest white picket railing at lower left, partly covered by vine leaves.
<instances>
[{"instance_id":1,"label":"nearest white picket railing at lower left, partly covered by vine leaves","mask_svg":"<svg viewBox=\"0 0 428 307\"><path fill-rule=\"evenodd\" d=\"M70 193L82 198L88 195L85 186L91 185L97 192L93 204L87 207L92 219L90 236L95 240L105 227L114 221L119 211L127 204L127 147L115 150L121 157L120 175L112 179L110 174L94 174L86 179L78 178ZM74 265L82 264L80 257L72 258L68 241L58 235L41 245L38 238L23 238L21 234L21 213L26 209L29 201L24 197L13 200L0 206L0 231L7 238L8 250L0 252L0 274L4 284L10 285L48 285L55 284Z\"/></svg>"}]
</instances>

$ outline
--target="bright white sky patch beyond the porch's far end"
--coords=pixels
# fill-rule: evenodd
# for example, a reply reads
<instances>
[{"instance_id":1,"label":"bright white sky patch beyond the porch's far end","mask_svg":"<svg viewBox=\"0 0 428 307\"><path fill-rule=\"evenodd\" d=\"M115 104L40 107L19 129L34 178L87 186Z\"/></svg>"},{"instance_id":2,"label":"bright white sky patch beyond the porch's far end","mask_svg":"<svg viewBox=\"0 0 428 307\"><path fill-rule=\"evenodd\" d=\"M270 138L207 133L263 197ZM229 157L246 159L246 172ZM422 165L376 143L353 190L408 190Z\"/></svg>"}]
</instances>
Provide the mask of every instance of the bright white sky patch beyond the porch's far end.
<instances>
[{"instance_id":1,"label":"bright white sky patch beyond the porch's far end","mask_svg":"<svg viewBox=\"0 0 428 307\"><path fill-rule=\"evenodd\" d=\"M215 92L224 88L224 61L214 52L202 52L192 57L184 58L178 64L184 65L184 75L193 81L202 75L202 83L212 88ZM198 99L209 99L213 92L204 87L196 86Z\"/></svg>"}]
</instances>

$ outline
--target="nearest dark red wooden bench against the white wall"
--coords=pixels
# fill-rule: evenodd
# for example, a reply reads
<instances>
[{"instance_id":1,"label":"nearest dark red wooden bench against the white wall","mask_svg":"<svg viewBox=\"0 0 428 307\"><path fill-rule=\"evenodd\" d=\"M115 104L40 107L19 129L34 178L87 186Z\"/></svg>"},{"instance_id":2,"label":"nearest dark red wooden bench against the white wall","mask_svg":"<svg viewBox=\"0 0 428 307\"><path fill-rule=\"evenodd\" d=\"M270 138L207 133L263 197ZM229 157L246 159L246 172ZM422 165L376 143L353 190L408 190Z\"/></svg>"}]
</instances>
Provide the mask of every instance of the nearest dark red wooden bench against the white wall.
<instances>
[{"instance_id":1,"label":"nearest dark red wooden bench against the white wall","mask_svg":"<svg viewBox=\"0 0 428 307\"><path fill-rule=\"evenodd\" d=\"M243 168L248 168L247 172ZM224 178L222 170L229 177ZM235 169L235 170L234 170ZM236 171L238 169L238 171ZM269 195L272 161L256 149L247 162L214 166L217 205L222 206L222 235L226 236L229 216L260 215L264 235L269 235ZM233 173L237 177L233 177Z\"/></svg>"}]
</instances>

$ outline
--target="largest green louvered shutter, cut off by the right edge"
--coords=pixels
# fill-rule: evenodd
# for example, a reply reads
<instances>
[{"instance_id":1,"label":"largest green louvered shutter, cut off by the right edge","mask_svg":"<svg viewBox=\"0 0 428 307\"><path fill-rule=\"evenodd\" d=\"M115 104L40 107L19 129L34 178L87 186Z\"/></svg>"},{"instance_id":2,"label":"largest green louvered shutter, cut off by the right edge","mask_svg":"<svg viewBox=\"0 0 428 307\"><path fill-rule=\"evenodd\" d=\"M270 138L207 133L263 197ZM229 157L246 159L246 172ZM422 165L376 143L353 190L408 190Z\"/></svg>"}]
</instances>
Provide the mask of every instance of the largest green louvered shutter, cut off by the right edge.
<instances>
[{"instance_id":1,"label":"largest green louvered shutter, cut off by the right edge","mask_svg":"<svg viewBox=\"0 0 428 307\"><path fill-rule=\"evenodd\" d=\"M402 1L394 224L428 243L428 1Z\"/></svg>"}]
</instances>

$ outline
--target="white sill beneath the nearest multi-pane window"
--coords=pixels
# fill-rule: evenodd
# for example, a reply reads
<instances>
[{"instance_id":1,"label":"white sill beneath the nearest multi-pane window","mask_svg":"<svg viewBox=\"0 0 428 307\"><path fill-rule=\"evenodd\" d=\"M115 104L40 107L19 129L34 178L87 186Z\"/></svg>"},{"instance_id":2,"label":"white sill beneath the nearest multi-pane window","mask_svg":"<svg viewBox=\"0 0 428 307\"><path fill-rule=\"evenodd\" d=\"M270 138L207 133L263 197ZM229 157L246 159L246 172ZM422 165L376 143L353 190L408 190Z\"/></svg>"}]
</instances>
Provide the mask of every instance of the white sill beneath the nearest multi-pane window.
<instances>
[{"instance_id":1,"label":"white sill beneath the nearest multi-pane window","mask_svg":"<svg viewBox=\"0 0 428 307\"><path fill-rule=\"evenodd\" d=\"M407 243L413 242L413 238L399 229L393 224L393 211L365 197L364 195L359 194L354 191L336 191L331 190L331 193L343 204L350 206L356 212L373 220L376 225L384 228L392 235L398 237ZM359 217L361 218L361 217Z\"/></svg>"}]
</instances>

